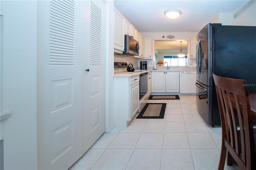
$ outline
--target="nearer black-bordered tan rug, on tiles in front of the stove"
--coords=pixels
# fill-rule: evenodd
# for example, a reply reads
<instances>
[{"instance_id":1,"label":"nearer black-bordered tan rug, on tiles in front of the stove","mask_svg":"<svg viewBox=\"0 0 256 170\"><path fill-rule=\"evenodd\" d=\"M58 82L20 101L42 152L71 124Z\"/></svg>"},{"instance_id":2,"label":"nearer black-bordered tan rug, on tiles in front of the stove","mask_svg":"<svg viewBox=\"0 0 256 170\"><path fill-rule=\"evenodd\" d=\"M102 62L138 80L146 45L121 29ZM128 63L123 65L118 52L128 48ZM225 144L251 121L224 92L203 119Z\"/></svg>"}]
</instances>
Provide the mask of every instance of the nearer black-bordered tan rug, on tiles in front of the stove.
<instances>
[{"instance_id":1,"label":"nearer black-bordered tan rug, on tiles in front of the stove","mask_svg":"<svg viewBox=\"0 0 256 170\"><path fill-rule=\"evenodd\" d=\"M146 103L136 119L164 119L166 103Z\"/></svg>"}]
</instances>

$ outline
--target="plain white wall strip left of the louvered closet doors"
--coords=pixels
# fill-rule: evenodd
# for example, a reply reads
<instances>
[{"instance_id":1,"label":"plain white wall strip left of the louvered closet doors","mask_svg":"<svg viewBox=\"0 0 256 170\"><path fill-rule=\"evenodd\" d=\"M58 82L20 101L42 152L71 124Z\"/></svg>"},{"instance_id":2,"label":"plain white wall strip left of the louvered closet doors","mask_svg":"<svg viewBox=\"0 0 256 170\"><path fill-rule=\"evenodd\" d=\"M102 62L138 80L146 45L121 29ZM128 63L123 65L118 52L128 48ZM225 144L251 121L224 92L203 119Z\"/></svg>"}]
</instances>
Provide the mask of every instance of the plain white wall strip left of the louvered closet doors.
<instances>
[{"instance_id":1,"label":"plain white wall strip left of the louvered closet doors","mask_svg":"<svg viewBox=\"0 0 256 170\"><path fill-rule=\"evenodd\" d=\"M4 1L4 169L37 169L36 1Z\"/></svg>"}]
</instances>

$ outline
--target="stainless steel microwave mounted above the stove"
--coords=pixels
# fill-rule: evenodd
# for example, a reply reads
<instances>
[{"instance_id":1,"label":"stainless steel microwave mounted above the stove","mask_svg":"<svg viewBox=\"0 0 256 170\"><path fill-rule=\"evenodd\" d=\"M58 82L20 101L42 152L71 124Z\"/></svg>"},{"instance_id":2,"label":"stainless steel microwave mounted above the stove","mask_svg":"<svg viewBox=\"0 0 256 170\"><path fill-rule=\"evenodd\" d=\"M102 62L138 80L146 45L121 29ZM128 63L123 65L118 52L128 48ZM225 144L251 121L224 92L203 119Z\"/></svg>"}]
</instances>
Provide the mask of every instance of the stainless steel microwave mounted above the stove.
<instances>
[{"instance_id":1,"label":"stainless steel microwave mounted above the stove","mask_svg":"<svg viewBox=\"0 0 256 170\"><path fill-rule=\"evenodd\" d=\"M124 55L134 56L139 55L140 46L139 42L136 41L129 35L124 35Z\"/></svg>"}]
</instances>

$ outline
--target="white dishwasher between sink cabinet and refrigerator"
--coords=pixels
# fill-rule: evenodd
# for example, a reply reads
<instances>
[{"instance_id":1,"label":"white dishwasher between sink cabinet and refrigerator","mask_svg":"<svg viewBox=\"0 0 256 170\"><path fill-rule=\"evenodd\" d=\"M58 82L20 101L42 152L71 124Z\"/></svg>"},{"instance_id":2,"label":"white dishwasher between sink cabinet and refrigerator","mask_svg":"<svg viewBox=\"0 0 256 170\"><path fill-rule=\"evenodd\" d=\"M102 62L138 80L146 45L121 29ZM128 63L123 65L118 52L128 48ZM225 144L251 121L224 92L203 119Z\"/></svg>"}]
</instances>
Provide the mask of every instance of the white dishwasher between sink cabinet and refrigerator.
<instances>
[{"instance_id":1,"label":"white dishwasher between sink cabinet and refrigerator","mask_svg":"<svg viewBox=\"0 0 256 170\"><path fill-rule=\"evenodd\" d=\"M196 94L196 71L180 71L180 93Z\"/></svg>"}]
</instances>

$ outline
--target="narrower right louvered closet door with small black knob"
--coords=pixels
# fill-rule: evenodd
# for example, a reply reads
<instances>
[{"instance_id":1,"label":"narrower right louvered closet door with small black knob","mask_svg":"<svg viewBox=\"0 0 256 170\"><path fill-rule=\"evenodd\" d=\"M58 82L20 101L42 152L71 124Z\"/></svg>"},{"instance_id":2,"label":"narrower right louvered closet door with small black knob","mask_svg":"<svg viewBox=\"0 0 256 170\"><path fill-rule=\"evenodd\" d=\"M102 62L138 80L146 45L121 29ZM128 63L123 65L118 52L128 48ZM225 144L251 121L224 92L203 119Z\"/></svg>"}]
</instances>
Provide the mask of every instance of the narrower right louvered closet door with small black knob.
<instances>
[{"instance_id":1,"label":"narrower right louvered closet door with small black knob","mask_svg":"<svg viewBox=\"0 0 256 170\"><path fill-rule=\"evenodd\" d=\"M106 4L86 1L83 86L83 152L105 132ZM89 71L86 71L89 69Z\"/></svg>"}]
</instances>

